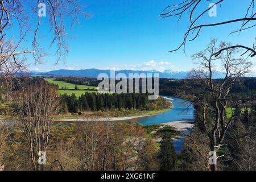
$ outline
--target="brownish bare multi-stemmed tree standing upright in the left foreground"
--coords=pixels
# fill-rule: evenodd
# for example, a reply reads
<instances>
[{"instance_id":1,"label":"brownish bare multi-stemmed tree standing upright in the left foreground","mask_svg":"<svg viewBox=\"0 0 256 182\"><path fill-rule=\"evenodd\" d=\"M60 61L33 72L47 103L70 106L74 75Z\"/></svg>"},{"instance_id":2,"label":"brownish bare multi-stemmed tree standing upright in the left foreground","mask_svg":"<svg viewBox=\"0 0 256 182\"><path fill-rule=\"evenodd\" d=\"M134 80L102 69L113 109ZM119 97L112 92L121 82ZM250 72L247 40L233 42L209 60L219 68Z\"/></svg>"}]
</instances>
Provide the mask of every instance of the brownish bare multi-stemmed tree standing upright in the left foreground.
<instances>
[{"instance_id":1,"label":"brownish bare multi-stemmed tree standing upright in the left foreground","mask_svg":"<svg viewBox=\"0 0 256 182\"><path fill-rule=\"evenodd\" d=\"M33 82L20 90L18 115L25 130L30 149L30 159L34 170L39 167L39 151L47 151L49 134L58 112L58 89L48 82Z\"/></svg>"}]
</instances>

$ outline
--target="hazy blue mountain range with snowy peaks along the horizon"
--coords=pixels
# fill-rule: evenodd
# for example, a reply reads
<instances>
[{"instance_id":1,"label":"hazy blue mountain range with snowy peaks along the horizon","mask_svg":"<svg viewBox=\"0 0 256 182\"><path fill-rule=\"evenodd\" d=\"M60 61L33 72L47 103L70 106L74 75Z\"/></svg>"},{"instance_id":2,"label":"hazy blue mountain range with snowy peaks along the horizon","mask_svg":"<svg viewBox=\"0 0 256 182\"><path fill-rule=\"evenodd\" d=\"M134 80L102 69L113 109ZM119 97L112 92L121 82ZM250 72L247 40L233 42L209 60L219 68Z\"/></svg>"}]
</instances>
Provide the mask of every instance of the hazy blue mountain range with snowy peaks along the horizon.
<instances>
[{"instance_id":1,"label":"hazy blue mountain range with snowy peaks along the horizon","mask_svg":"<svg viewBox=\"0 0 256 182\"><path fill-rule=\"evenodd\" d=\"M93 77L97 78L100 73L105 73L110 77L110 70L104 70L104 69L80 69L80 70L68 70L68 69L59 69L59 70L54 70L54 71L49 71L49 72L30 72L32 75L43 75L43 76L75 76L75 77ZM175 79L182 79L186 78L188 75L187 71L181 71L181 72L176 72L176 71L171 71L171 70L166 70L163 72L159 71L134 71L134 70L119 70L115 71L115 75L118 73L124 73L127 77L129 73L134 74L159 74L159 78L175 78ZM154 76L154 75L153 75ZM255 76L255 75L254 75ZM214 75L214 78L222 78L224 77L224 73L222 72L216 72Z\"/></svg>"}]
</instances>

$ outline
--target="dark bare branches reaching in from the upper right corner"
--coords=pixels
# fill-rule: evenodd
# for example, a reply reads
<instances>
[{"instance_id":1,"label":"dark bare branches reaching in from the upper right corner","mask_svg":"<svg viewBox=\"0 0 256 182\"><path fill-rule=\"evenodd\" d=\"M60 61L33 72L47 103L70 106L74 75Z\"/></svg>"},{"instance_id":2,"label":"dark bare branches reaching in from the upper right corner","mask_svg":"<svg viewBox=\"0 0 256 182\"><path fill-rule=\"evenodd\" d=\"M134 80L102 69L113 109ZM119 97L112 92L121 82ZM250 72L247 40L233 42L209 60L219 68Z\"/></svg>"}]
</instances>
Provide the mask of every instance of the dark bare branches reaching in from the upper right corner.
<instances>
[{"instance_id":1,"label":"dark bare branches reaching in from the upper right corner","mask_svg":"<svg viewBox=\"0 0 256 182\"><path fill-rule=\"evenodd\" d=\"M206 27L214 27L214 26L221 26L224 24L241 22L242 23L241 27L238 28L237 31L231 32L231 33L235 33L235 32L245 31L249 28L254 28L256 26L256 24L254 23L254 21L256 20L256 13L254 12L255 11L254 0L247 1L249 3L247 10L245 12L245 15L242 16L241 18L224 20L223 22L216 22L216 23L201 23L201 22L205 22L204 20L201 21L201 19L203 19L205 14L208 14L209 10L212 9L213 6L217 6L217 5L221 6L221 4L226 2L226 0L210 1L210 2L213 2L213 5L207 8L204 8L205 2L209 2L209 1L208 0L205 0L205 1L204 0L181 0L180 3L178 3L177 5L167 6L162 11L162 13L160 14L160 17L168 18L168 17L174 16L174 17L178 17L178 21L181 18L183 18L185 13L188 13L189 26L187 28L187 31L185 31L183 42L180 44L180 46L177 49L174 49L170 52L177 51L181 47L183 47L185 51L185 45L187 43L187 40L189 41L195 40L199 36L203 28L206 28ZM232 1L232 3L234 2ZM255 40L255 38L253 37L252 40ZM243 45L227 46L222 49L218 49L218 51L213 52L212 54L215 56L218 56L220 55L221 52L225 51L226 49L234 49L234 48L245 49L246 52L244 53L249 52L249 55L251 57L256 56L255 45L251 47L243 46ZM242 55L244 53L242 53Z\"/></svg>"}]
</instances>

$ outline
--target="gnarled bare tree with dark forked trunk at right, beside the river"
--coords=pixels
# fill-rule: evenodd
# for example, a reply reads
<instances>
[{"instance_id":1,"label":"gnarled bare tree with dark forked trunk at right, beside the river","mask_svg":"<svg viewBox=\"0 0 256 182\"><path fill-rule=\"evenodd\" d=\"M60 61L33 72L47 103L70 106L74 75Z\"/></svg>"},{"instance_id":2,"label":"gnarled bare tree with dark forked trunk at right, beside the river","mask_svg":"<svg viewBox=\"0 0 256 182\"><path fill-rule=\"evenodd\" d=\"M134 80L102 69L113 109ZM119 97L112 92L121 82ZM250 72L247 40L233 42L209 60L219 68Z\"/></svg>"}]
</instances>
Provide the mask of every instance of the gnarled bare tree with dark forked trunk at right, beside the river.
<instances>
[{"instance_id":1,"label":"gnarled bare tree with dark forked trunk at right, beside the river","mask_svg":"<svg viewBox=\"0 0 256 182\"><path fill-rule=\"evenodd\" d=\"M208 95L208 99L204 99L201 93L195 93L195 104L201 109L201 126L203 132L207 133L209 137L209 150L217 152L222 146L226 131L233 122L234 115L230 119L226 118L226 107L231 106L233 110L234 104L245 104L247 101L256 100L256 98L231 98L230 90L239 77L250 72L251 62L247 57L236 56L240 53L240 49L232 48L229 43L222 42L220 46L217 41L213 39L204 51L193 55L198 69L194 69L189 77L200 84L204 90L204 95ZM213 56L213 53L225 49L218 56ZM216 67L224 71L223 79L214 80ZM210 117L207 117L210 115ZM217 165L210 165L210 169L217 170Z\"/></svg>"}]
</instances>

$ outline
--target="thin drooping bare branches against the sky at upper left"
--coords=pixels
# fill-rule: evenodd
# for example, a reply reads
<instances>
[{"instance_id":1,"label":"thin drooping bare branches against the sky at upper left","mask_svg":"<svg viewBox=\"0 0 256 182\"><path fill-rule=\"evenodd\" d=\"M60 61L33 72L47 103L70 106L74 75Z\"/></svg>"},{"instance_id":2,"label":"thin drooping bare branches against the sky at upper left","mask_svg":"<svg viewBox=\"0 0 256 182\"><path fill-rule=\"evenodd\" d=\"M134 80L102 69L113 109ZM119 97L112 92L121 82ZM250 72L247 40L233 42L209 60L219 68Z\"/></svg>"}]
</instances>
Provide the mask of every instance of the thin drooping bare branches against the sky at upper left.
<instances>
[{"instance_id":1,"label":"thin drooping bare branches against the sky at upper left","mask_svg":"<svg viewBox=\"0 0 256 182\"><path fill-rule=\"evenodd\" d=\"M40 15L44 5L46 16ZM47 22L53 35L49 44L56 47L58 63L68 52L64 19L72 19L73 24L78 22L79 14L86 16L82 6L73 0L1 0L0 10L0 75L5 76L7 84L10 77L25 68L26 53L32 53L35 63L42 63L42 57L47 53L39 41L43 36L40 30L47 27ZM18 31L19 36L13 37L13 31Z\"/></svg>"}]
</instances>

